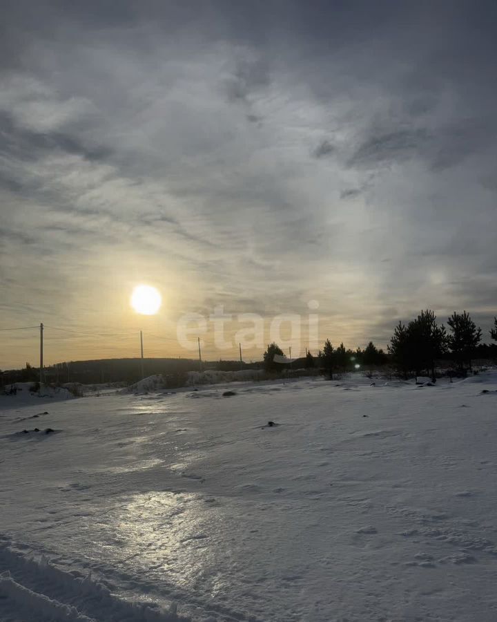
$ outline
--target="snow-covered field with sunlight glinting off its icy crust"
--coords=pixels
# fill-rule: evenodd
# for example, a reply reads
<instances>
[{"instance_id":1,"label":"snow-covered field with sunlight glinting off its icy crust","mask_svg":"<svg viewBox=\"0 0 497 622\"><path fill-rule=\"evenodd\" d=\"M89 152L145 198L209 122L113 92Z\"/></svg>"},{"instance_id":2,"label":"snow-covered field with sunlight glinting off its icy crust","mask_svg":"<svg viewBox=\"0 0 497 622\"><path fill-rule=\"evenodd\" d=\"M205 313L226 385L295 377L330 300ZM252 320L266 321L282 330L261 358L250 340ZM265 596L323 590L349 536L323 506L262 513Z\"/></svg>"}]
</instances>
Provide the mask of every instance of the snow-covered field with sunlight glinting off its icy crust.
<instances>
[{"instance_id":1,"label":"snow-covered field with sunlight glinting off its icy crust","mask_svg":"<svg viewBox=\"0 0 497 622\"><path fill-rule=\"evenodd\" d=\"M0 397L2 622L497 620L495 373L36 400Z\"/></svg>"}]
</instances>

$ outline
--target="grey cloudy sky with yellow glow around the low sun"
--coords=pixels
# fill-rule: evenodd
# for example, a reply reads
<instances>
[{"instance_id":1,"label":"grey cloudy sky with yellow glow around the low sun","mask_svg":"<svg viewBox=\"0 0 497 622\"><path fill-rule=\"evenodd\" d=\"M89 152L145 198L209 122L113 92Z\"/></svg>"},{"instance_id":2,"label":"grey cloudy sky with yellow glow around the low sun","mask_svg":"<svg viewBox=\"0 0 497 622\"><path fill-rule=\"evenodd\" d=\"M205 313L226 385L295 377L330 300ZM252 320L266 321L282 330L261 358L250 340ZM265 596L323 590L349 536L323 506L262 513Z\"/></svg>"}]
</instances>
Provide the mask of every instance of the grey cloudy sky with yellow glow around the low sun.
<instances>
[{"instance_id":1,"label":"grey cloudy sky with yellow glow around the low sun","mask_svg":"<svg viewBox=\"0 0 497 622\"><path fill-rule=\"evenodd\" d=\"M139 330L189 356L178 322L221 305L226 359L244 313L302 316L304 350L317 301L351 348L422 308L488 341L496 28L493 1L3 4L0 328L43 322L47 363L135 356ZM1 331L0 368L37 339Z\"/></svg>"}]
</instances>

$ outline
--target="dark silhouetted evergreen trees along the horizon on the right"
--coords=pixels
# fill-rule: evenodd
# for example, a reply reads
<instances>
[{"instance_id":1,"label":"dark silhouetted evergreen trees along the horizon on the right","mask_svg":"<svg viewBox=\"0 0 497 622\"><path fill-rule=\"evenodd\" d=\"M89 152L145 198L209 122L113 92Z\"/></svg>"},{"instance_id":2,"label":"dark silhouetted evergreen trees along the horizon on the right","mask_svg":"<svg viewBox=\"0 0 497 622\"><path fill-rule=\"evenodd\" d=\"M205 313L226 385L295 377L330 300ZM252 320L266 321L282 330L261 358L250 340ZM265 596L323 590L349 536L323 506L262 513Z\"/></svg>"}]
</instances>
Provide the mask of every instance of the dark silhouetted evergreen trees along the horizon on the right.
<instances>
[{"instance_id":1,"label":"dark silhouetted evergreen trees along the horizon on the right","mask_svg":"<svg viewBox=\"0 0 497 622\"><path fill-rule=\"evenodd\" d=\"M497 317L494 317L494 328L490 337L497 341ZM481 344L482 330L471 319L467 311L454 312L447 319L447 327L439 324L436 314L430 310L422 310L418 317L402 323L400 321L393 331L387 352L376 348L369 341L363 350L350 350L343 343L333 348L329 339L324 342L318 356L308 352L302 363L308 367L318 367L333 378L333 373L342 373L353 368L378 367L389 365L398 375L407 379L409 375L436 376L436 363L440 359L449 359L452 364L452 375L466 375L472 369L472 361L478 355L481 358L496 357L496 346L493 348ZM281 369L275 363L275 355L283 355L276 343L271 343L264 352L266 370Z\"/></svg>"}]
</instances>

